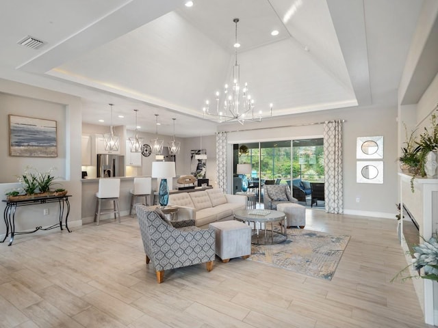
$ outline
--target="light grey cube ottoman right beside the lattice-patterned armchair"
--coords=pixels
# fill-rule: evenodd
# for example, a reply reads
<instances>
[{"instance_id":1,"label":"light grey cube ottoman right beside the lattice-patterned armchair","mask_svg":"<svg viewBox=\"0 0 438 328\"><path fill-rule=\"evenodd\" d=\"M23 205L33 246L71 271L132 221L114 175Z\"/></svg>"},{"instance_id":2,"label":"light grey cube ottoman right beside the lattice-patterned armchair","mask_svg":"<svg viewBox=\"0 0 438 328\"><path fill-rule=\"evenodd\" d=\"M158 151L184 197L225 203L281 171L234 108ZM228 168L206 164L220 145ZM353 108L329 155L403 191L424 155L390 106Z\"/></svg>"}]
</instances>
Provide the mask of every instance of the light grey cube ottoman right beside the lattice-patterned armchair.
<instances>
[{"instance_id":1,"label":"light grey cube ottoman right beside the lattice-patterned armchair","mask_svg":"<svg viewBox=\"0 0 438 328\"><path fill-rule=\"evenodd\" d=\"M239 221L221 221L209 224L216 231L216 255L222 262L230 258L248 258L251 254L251 228Z\"/></svg>"}]
</instances>

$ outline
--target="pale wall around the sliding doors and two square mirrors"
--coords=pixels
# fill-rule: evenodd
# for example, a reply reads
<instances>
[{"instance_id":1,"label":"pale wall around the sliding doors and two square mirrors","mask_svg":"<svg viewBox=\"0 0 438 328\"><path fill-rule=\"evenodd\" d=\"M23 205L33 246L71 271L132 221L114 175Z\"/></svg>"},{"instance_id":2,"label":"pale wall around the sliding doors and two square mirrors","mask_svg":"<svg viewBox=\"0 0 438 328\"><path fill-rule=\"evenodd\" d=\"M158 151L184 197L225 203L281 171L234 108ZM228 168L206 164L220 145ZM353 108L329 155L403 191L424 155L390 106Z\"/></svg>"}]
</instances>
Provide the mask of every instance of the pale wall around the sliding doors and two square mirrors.
<instances>
[{"instance_id":1,"label":"pale wall around the sliding doors and two square mirrors","mask_svg":"<svg viewBox=\"0 0 438 328\"><path fill-rule=\"evenodd\" d=\"M228 143L249 141L302 139L305 137L321 137L323 124L296 126L296 124L324 122L324 120L343 119L344 122L344 213L367 215L372 217L388 217L395 219L397 200L398 156L397 146L397 109L396 107L351 107L335 111L320 111L307 115L296 115L294 118L266 120L245 126L222 126L221 131L241 131L228 135ZM244 131L257 127L270 127ZM275 128L274 126L285 126ZM356 142L357 137L372 137L382 135L384 140L384 182L383 184L364 184L356 182ZM232 148L229 146L228 156L228 186L231 188ZM356 198L360 202L356 202Z\"/></svg>"}]
</instances>

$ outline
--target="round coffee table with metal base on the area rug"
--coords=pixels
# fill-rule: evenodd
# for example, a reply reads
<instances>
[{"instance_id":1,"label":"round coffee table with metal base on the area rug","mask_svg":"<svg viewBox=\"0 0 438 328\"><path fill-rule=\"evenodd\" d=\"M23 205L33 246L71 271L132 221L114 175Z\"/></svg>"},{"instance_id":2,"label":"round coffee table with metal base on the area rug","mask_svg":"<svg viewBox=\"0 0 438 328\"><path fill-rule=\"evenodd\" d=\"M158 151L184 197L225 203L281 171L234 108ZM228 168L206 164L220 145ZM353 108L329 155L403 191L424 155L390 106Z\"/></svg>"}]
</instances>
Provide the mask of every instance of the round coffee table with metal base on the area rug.
<instances>
[{"instance_id":1,"label":"round coffee table with metal base on the area rug","mask_svg":"<svg viewBox=\"0 0 438 328\"><path fill-rule=\"evenodd\" d=\"M253 228L251 243L273 245L287 240L286 215L279 210L236 210L234 219L248 223ZM274 223L281 223L275 226Z\"/></svg>"}]
</instances>

